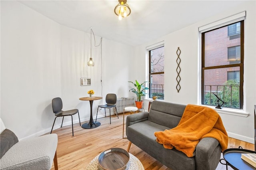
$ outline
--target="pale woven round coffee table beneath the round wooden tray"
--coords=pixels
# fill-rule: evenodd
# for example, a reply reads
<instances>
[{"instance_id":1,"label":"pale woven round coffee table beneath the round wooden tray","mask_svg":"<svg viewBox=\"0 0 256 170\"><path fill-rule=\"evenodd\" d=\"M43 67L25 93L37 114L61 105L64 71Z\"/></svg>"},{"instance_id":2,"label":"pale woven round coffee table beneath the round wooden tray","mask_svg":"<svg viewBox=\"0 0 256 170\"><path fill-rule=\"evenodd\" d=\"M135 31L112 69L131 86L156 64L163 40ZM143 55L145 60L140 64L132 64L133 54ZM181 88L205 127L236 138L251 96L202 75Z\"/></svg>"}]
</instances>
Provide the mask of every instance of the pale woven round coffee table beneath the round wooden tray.
<instances>
[{"instance_id":1,"label":"pale woven round coffee table beneath the round wooden tray","mask_svg":"<svg viewBox=\"0 0 256 170\"><path fill-rule=\"evenodd\" d=\"M133 154L130 154L130 166L128 170L144 170L144 167L140 160L136 158ZM100 154L98 154L93 160L88 164L86 170L98 170L98 158Z\"/></svg>"}]
</instances>

